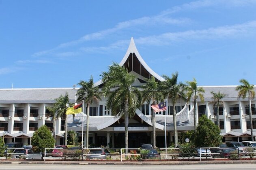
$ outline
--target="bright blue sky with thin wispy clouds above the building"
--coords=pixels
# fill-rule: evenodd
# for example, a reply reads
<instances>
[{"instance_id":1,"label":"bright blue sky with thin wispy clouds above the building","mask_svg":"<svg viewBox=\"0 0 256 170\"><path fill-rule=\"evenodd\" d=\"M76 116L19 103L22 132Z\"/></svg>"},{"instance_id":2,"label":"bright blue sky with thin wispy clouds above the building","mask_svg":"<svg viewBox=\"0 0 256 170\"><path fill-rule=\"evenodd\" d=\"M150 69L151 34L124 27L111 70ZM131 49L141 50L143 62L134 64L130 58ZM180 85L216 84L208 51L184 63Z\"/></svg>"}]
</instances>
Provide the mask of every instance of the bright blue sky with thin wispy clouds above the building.
<instances>
[{"instance_id":1,"label":"bright blue sky with thin wispy clouds above the building","mask_svg":"<svg viewBox=\"0 0 256 170\"><path fill-rule=\"evenodd\" d=\"M131 37L159 75L256 84L256 0L0 0L0 88L98 81Z\"/></svg>"}]
</instances>

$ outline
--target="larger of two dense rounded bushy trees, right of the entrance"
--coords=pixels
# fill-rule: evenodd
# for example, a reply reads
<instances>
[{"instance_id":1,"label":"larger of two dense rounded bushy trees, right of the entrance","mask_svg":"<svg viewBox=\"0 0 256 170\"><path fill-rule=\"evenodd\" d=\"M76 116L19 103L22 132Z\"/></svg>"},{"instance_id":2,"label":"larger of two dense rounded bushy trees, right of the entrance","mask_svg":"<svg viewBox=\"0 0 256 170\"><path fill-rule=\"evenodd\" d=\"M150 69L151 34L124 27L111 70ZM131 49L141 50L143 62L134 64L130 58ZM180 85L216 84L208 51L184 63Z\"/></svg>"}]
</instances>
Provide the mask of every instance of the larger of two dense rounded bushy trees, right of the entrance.
<instances>
[{"instance_id":1,"label":"larger of two dense rounded bushy trees, right of the entrance","mask_svg":"<svg viewBox=\"0 0 256 170\"><path fill-rule=\"evenodd\" d=\"M222 143L220 129L206 115L202 115L196 127L194 144L196 147L218 147Z\"/></svg>"}]
</instances>

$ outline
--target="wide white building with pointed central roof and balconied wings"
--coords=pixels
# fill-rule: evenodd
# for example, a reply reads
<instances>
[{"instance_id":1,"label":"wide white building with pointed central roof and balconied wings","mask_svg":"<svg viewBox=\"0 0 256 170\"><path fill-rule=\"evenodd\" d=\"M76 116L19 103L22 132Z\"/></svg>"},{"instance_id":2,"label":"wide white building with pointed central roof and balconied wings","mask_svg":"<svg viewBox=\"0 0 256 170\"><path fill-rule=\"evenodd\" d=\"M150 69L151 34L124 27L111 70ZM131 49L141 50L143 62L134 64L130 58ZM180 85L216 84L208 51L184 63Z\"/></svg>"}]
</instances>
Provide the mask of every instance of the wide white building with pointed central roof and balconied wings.
<instances>
[{"instance_id":1,"label":"wide white building with pointed central roof and balconied wings","mask_svg":"<svg viewBox=\"0 0 256 170\"><path fill-rule=\"evenodd\" d=\"M120 62L121 66L128 68L131 74L136 74L137 80L134 86L143 85L146 79L153 75L158 81L164 79L148 67L138 53L133 38L129 48ZM99 88L103 87L101 81L95 83ZM224 107L220 108L220 128L224 140L242 141L250 140L250 127L248 101L237 98L236 86L202 86L205 90L204 102L198 102L198 115L205 114L212 121L216 121L216 108L211 102L211 91L227 94L223 99ZM47 112L46 107L52 106L54 99L60 95L69 94L70 102L75 102L77 89L72 88L45 88L45 89L0 89L0 136L4 136L6 142L23 142L30 144L30 138L41 125L47 125L53 129L53 118ZM111 147L124 146L124 119L114 116L111 110L105 106L106 99L90 106L89 144L95 146L110 145ZM171 103L168 100L168 103ZM256 136L256 100L252 101L252 117L254 136ZM86 107L86 106L85 106ZM176 104L178 133L194 130L193 103L180 100ZM86 110L86 109L85 109ZM86 113L68 116L68 130L77 131L82 136L82 117L84 116L84 132L86 132ZM165 113L156 114L156 143L158 147L164 147ZM173 141L172 106L169 106L166 115L168 144ZM63 133L65 120L58 118L56 121L56 144L64 144ZM150 104L142 104L136 110L135 117L129 119L129 147L140 147L142 143L151 143L152 137ZM86 134L86 133L85 133ZM84 135L84 139L86 136ZM86 141L86 140L84 140Z\"/></svg>"}]
</instances>

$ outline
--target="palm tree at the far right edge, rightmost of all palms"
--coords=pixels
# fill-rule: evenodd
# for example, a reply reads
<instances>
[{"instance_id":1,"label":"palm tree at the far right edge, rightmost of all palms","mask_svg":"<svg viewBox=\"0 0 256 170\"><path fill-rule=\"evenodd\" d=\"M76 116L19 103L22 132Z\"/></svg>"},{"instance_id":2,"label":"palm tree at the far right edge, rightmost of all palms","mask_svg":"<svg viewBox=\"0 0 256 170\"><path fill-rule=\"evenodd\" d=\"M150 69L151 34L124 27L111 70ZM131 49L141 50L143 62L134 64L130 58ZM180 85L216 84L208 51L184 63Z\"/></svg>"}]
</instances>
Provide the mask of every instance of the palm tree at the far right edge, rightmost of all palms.
<instances>
[{"instance_id":1,"label":"palm tree at the far right edge, rightmost of all palms","mask_svg":"<svg viewBox=\"0 0 256 170\"><path fill-rule=\"evenodd\" d=\"M254 141L253 127L252 127L252 104L251 104L251 100L254 99L255 97L254 85L250 85L250 83L245 79L241 79L239 80L239 82L241 83L241 85L238 85L236 88L236 90L239 91L238 97L239 98L242 97L244 99L248 94L251 137L252 137L252 141Z\"/></svg>"}]
</instances>

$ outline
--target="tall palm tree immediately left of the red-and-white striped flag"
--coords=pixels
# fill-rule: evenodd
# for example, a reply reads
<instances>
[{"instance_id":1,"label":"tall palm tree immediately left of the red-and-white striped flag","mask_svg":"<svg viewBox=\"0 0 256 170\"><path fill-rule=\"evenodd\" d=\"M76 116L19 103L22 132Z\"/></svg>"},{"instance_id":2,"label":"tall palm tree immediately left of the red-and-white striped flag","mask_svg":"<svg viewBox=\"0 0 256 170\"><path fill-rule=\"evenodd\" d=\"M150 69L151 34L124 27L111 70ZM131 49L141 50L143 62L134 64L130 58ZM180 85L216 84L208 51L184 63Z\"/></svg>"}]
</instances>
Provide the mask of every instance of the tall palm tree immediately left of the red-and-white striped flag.
<instances>
[{"instance_id":1,"label":"tall palm tree immediately left of the red-and-white striped flag","mask_svg":"<svg viewBox=\"0 0 256 170\"><path fill-rule=\"evenodd\" d=\"M151 76L150 79L146 81L146 85L142 86L142 103L145 101L149 104L152 101L152 104L155 105L156 102L163 100L163 94L159 91L159 83L155 80L155 77ZM151 121L153 128L153 147L156 147L155 144L155 111L151 108Z\"/></svg>"}]
</instances>

